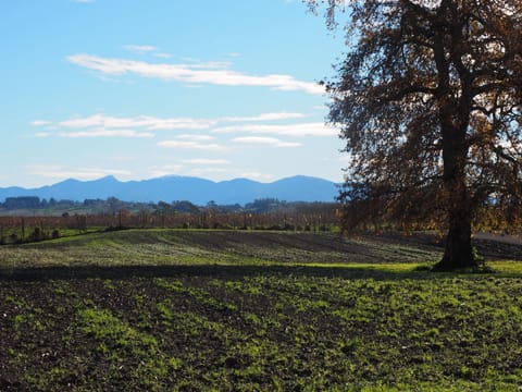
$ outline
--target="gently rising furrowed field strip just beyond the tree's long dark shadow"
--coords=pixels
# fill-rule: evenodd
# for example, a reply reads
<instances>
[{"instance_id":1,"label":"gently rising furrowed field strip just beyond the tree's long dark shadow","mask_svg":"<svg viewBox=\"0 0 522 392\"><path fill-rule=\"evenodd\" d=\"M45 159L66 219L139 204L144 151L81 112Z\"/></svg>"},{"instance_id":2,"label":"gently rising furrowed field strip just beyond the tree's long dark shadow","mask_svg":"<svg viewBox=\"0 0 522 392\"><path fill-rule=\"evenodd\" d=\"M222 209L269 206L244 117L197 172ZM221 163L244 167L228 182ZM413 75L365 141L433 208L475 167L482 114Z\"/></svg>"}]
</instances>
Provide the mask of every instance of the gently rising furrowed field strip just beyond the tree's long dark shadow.
<instances>
[{"instance_id":1,"label":"gently rising furrowed field strip just beyond the tree's long dark shadow","mask_svg":"<svg viewBox=\"0 0 522 392\"><path fill-rule=\"evenodd\" d=\"M427 240L422 240L427 241ZM125 230L25 246L5 246L0 266L417 262L440 257L433 244L393 238L269 231Z\"/></svg>"}]
</instances>

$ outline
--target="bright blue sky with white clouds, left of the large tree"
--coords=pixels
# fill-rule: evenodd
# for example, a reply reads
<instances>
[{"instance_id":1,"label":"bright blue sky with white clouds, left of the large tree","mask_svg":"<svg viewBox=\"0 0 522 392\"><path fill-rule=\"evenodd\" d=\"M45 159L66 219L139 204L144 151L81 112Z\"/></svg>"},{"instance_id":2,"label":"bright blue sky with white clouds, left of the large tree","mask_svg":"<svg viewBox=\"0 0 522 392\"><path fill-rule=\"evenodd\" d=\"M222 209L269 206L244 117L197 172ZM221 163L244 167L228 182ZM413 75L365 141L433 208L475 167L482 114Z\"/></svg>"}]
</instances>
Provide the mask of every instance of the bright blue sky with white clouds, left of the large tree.
<instances>
[{"instance_id":1,"label":"bright blue sky with white clouds, left of the large tree","mask_svg":"<svg viewBox=\"0 0 522 392\"><path fill-rule=\"evenodd\" d=\"M0 186L340 182L344 41L299 0L2 0Z\"/></svg>"}]
</instances>

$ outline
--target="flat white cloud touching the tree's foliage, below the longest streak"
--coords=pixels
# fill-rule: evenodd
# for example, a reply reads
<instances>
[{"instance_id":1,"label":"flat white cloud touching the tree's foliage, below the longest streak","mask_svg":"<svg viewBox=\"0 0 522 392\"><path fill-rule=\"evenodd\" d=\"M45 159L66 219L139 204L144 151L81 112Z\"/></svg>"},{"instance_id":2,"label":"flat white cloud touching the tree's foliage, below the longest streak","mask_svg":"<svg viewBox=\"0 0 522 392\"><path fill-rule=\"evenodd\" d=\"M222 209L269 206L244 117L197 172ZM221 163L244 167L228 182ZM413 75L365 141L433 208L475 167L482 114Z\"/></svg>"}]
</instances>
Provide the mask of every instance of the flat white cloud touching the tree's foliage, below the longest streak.
<instances>
[{"instance_id":1,"label":"flat white cloud touching the tree's foliage, below the longest streak","mask_svg":"<svg viewBox=\"0 0 522 392\"><path fill-rule=\"evenodd\" d=\"M221 126L212 131L213 133L253 133L253 134L273 134L286 136L336 136L339 131L325 125L324 123L301 123L301 124L252 124L252 125L231 125Z\"/></svg>"}]
</instances>

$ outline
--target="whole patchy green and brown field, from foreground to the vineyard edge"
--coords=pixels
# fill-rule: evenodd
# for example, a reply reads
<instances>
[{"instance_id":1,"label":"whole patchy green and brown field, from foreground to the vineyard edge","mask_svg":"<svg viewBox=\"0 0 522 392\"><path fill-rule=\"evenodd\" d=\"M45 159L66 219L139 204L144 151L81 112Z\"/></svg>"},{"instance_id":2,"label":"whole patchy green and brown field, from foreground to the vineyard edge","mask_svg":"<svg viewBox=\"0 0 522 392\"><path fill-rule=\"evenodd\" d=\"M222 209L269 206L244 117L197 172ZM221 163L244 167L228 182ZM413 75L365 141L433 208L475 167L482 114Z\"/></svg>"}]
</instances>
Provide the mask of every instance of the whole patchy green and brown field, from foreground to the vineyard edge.
<instances>
[{"instance_id":1,"label":"whole patchy green and brown field, from foreground to the vineyard edge","mask_svg":"<svg viewBox=\"0 0 522 392\"><path fill-rule=\"evenodd\" d=\"M522 266L430 243L122 231L0 248L0 391L519 391Z\"/></svg>"}]
</instances>

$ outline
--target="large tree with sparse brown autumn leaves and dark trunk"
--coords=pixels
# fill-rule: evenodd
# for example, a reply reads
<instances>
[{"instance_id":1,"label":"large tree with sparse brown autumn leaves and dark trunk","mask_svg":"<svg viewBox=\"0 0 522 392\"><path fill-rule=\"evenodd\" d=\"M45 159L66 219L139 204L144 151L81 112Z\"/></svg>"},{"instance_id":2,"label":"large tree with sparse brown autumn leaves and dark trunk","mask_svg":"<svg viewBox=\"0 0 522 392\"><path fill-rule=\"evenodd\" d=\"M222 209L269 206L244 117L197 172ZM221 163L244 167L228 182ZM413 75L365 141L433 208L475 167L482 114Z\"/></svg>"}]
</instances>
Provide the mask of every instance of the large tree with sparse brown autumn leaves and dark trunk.
<instances>
[{"instance_id":1,"label":"large tree with sparse brown autumn leaves and dark trunk","mask_svg":"<svg viewBox=\"0 0 522 392\"><path fill-rule=\"evenodd\" d=\"M308 1L318 9L318 1ZM522 197L522 2L327 0L348 52L326 82L350 163L345 221L443 218L438 269L476 266L472 224Z\"/></svg>"}]
</instances>

